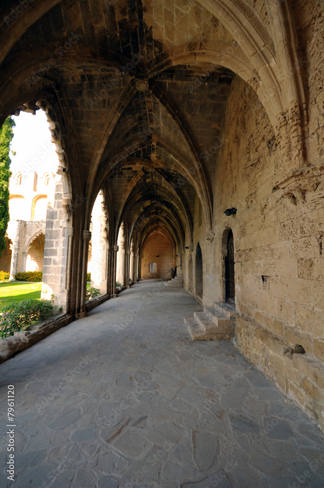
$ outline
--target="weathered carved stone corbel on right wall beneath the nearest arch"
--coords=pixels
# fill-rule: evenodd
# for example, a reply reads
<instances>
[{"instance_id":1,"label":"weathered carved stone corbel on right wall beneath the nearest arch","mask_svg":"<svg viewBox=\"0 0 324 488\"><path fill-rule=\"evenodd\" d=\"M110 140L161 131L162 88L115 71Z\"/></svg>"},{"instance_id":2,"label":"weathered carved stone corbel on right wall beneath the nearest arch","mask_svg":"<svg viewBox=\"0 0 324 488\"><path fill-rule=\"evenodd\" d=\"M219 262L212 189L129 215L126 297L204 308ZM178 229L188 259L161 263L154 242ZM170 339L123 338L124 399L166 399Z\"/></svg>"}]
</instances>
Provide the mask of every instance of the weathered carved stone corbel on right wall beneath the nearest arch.
<instances>
[{"instance_id":1,"label":"weathered carved stone corbel on right wall beneath the nearest arch","mask_svg":"<svg viewBox=\"0 0 324 488\"><path fill-rule=\"evenodd\" d=\"M282 190L282 196L289 199L294 205L305 202L305 194L315 191L323 181L324 160L314 166L304 166L293 169L288 178L277 184L276 190Z\"/></svg>"}]
</instances>

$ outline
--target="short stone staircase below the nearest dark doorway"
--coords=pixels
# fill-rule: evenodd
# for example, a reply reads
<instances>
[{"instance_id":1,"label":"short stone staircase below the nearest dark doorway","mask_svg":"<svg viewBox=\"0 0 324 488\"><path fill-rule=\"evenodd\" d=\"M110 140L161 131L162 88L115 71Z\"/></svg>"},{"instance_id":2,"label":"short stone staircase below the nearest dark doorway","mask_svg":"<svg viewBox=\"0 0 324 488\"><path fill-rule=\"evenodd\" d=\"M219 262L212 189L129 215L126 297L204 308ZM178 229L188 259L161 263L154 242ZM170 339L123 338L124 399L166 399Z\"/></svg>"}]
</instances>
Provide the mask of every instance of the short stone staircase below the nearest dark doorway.
<instances>
[{"instance_id":1,"label":"short stone staircase below the nearest dark doorway","mask_svg":"<svg viewBox=\"0 0 324 488\"><path fill-rule=\"evenodd\" d=\"M235 335L235 319L238 313L233 307L214 303L204 307L203 312L194 312L193 318L185 318L193 341L223 341Z\"/></svg>"}]
</instances>

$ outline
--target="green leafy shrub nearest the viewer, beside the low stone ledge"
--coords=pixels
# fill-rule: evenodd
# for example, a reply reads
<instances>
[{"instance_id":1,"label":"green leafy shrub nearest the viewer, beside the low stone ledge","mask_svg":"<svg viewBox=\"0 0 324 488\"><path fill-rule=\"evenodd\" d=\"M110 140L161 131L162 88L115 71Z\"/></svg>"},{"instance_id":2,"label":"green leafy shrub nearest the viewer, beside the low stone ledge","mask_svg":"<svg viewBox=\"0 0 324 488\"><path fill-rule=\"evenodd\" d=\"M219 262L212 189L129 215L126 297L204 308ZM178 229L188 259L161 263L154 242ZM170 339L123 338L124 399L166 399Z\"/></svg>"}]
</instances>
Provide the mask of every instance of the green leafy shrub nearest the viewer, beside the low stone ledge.
<instances>
[{"instance_id":1,"label":"green leafy shrub nearest the viewer, beside the low stone ledge","mask_svg":"<svg viewBox=\"0 0 324 488\"><path fill-rule=\"evenodd\" d=\"M0 315L0 337L4 339L33 325L48 319L57 310L50 300L22 300L7 305Z\"/></svg>"}]
</instances>

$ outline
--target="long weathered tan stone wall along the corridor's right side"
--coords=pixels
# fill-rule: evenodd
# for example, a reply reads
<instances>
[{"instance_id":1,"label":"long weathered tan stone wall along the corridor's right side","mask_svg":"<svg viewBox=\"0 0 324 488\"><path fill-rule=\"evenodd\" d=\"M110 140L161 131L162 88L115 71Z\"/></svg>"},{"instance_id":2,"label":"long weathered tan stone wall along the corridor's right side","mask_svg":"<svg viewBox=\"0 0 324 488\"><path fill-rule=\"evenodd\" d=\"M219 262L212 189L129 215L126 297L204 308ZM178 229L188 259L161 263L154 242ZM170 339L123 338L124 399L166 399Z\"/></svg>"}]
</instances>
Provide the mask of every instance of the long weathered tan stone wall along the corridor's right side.
<instances>
[{"instance_id":1,"label":"long weathered tan stone wall along the corridor's right side","mask_svg":"<svg viewBox=\"0 0 324 488\"><path fill-rule=\"evenodd\" d=\"M194 236L203 254L203 303L225 300L224 243L231 228L236 309L242 315L238 344L321 423L324 398L315 373L311 376L308 366L299 370L297 355L281 357L281 347L302 345L313 362L320 365L324 360L323 169L319 164L303 170L274 188L278 158L262 104L250 87L236 79L216 161L212 243L204 239L199 213L195 216ZM237 213L226 217L223 212L231 207ZM272 343L280 347L274 350Z\"/></svg>"}]
</instances>

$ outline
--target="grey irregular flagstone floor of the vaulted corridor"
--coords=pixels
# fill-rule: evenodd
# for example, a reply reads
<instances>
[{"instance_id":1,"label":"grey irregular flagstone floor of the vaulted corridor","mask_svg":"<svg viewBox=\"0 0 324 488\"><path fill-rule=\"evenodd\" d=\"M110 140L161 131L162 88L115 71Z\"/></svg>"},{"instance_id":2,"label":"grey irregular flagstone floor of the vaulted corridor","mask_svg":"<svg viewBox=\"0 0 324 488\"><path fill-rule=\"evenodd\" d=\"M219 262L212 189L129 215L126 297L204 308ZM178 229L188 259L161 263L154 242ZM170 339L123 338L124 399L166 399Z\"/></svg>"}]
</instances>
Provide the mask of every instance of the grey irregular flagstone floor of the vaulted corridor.
<instances>
[{"instance_id":1,"label":"grey irregular flagstone floor of the vaulted corridor","mask_svg":"<svg viewBox=\"0 0 324 488\"><path fill-rule=\"evenodd\" d=\"M0 486L323 488L319 429L232 343L193 343L199 310L145 281L0 365Z\"/></svg>"}]
</instances>

